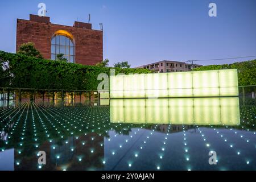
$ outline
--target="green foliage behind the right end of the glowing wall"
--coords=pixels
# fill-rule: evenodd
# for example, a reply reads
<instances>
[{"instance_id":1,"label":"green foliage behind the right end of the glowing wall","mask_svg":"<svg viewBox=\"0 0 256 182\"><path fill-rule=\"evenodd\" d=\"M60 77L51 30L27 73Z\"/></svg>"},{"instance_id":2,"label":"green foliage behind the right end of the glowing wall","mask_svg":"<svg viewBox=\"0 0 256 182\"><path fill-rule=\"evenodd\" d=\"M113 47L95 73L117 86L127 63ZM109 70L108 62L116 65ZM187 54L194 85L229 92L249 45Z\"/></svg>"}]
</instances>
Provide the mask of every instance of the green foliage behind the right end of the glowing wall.
<instances>
[{"instance_id":1,"label":"green foliage behind the right end of the glowing wall","mask_svg":"<svg viewBox=\"0 0 256 182\"><path fill-rule=\"evenodd\" d=\"M240 86L256 85L256 60L244 61L233 64L208 65L193 69L193 71L207 71L217 69L237 69L238 84Z\"/></svg>"}]
</instances>

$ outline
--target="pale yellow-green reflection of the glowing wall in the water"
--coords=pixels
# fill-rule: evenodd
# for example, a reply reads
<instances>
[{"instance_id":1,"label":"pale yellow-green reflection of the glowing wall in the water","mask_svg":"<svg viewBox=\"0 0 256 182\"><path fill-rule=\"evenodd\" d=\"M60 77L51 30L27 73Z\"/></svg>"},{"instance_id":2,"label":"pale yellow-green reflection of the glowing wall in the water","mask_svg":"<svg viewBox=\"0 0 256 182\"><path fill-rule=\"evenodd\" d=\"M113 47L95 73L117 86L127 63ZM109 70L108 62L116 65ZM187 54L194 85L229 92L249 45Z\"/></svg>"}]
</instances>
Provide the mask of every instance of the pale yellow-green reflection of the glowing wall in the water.
<instances>
[{"instance_id":1,"label":"pale yellow-green reflection of the glowing wall in the water","mask_svg":"<svg viewBox=\"0 0 256 182\"><path fill-rule=\"evenodd\" d=\"M238 97L110 100L110 122L240 125Z\"/></svg>"}]
</instances>

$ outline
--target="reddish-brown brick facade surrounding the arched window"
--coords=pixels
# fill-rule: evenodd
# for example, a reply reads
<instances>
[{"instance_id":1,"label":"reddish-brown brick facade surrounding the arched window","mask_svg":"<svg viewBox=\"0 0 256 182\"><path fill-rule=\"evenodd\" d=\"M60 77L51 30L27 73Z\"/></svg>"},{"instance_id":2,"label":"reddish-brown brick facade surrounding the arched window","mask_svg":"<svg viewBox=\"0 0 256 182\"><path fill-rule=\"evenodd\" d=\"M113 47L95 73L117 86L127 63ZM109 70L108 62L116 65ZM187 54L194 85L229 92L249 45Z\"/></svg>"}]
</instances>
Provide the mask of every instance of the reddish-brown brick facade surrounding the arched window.
<instances>
[{"instance_id":1,"label":"reddish-brown brick facade surrounding the arched window","mask_svg":"<svg viewBox=\"0 0 256 182\"><path fill-rule=\"evenodd\" d=\"M30 20L17 19L16 51L21 44L33 42L45 59L51 59L51 39L59 30L73 36L75 63L95 65L103 60L103 32L92 30L92 24L75 22L73 27L63 26L37 15L30 15Z\"/></svg>"}]
</instances>

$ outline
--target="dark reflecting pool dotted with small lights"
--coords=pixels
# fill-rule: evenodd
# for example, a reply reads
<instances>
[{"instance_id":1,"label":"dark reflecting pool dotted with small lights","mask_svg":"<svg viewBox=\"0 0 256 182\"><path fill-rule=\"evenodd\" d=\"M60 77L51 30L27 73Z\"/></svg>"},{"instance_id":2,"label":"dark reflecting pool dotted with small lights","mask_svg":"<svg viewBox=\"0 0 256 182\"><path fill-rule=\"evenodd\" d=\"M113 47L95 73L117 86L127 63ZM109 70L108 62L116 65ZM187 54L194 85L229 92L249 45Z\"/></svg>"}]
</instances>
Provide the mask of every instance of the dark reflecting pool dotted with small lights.
<instances>
[{"instance_id":1,"label":"dark reflecting pool dotted with small lights","mask_svg":"<svg viewBox=\"0 0 256 182\"><path fill-rule=\"evenodd\" d=\"M238 97L2 102L0 170L255 170L255 111Z\"/></svg>"}]
</instances>

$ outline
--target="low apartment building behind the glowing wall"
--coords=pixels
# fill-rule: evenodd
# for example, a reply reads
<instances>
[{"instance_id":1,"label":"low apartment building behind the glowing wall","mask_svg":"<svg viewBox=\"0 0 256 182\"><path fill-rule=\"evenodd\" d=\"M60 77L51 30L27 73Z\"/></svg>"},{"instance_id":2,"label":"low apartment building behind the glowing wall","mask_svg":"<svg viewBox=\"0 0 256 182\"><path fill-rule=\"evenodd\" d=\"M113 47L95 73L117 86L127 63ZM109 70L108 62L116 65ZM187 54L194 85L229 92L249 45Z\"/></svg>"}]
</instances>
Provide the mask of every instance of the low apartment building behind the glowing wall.
<instances>
[{"instance_id":1,"label":"low apartment building behind the glowing wall","mask_svg":"<svg viewBox=\"0 0 256 182\"><path fill-rule=\"evenodd\" d=\"M203 65L193 64L193 68L198 68ZM156 63L143 65L138 68L150 69L156 73L168 73L168 72L187 72L192 70L192 64L183 63L179 61L163 60Z\"/></svg>"}]
</instances>

